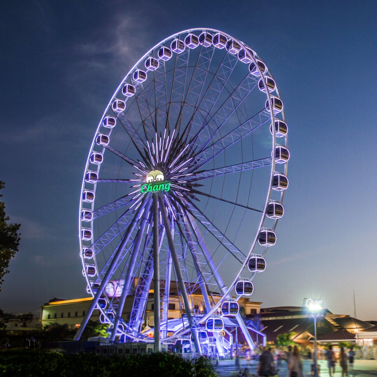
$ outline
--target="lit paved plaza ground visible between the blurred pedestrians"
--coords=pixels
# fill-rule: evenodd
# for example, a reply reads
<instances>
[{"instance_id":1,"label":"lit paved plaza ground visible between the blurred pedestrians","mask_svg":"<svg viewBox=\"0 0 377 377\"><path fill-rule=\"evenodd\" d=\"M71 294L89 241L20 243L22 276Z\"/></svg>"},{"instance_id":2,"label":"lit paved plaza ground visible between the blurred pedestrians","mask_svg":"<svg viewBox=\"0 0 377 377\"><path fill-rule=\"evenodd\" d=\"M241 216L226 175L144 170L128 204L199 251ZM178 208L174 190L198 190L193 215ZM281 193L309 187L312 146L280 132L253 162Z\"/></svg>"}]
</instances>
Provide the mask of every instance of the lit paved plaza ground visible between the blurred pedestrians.
<instances>
[{"instance_id":1,"label":"lit paved plaza ground visible between the blurred pedestrians","mask_svg":"<svg viewBox=\"0 0 377 377\"><path fill-rule=\"evenodd\" d=\"M320 376L329 377L329 371L327 368L327 362L325 360L319 360ZM247 367L246 360L241 359L241 368ZM251 362L248 366L248 370L251 374L256 374L257 362ZM219 362L217 372L220 377L229 377L231 372L235 372L238 369L235 366L234 360L223 360ZM311 375L311 360L304 360L304 374L306 377ZM287 364L282 362L282 367L278 372L279 377L288 377ZM377 360L355 360L354 370L349 370L348 375L350 377L371 377L377 376ZM339 363L335 368L335 374L332 377L342 377L342 370Z\"/></svg>"}]
</instances>

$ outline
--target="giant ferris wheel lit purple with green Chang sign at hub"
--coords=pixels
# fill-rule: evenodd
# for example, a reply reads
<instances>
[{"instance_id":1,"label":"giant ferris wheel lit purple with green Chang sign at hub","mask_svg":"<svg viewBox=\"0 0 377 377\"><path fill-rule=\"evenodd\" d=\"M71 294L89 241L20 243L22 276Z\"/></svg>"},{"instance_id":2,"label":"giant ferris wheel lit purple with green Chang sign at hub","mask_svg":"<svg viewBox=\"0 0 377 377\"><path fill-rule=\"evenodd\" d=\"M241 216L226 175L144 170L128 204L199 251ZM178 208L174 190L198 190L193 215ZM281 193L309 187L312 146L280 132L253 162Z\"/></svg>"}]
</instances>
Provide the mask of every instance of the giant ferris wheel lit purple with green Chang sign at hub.
<instances>
[{"instance_id":1,"label":"giant ferris wheel lit purple with green Chang sign at hub","mask_svg":"<svg viewBox=\"0 0 377 377\"><path fill-rule=\"evenodd\" d=\"M242 41L190 29L150 49L115 90L86 162L80 256L94 299L75 339L98 308L110 340L153 341L153 289L155 342L191 336L202 352L212 333L220 349L231 318L252 346L237 299L276 242L287 131L274 78Z\"/></svg>"}]
</instances>

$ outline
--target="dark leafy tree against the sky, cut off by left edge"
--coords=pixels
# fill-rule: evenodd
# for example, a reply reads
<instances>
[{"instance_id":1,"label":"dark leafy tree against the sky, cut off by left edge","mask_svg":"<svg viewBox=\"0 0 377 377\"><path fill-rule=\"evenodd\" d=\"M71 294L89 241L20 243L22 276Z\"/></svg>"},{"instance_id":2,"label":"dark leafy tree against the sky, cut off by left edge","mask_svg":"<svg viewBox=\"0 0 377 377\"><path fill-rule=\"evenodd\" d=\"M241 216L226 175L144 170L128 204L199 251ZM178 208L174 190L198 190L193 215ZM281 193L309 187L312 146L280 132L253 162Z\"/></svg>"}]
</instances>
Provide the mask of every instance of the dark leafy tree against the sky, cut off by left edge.
<instances>
[{"instance_id":1,"label":"dark leafy tree against the sky, cut off by left edge","mask_svg":"<svg viewBox=\"0 0 377 377\"><path fill-rule=\"evenodd\" d=\"M0 181L0 190L4 188L4 185L5 183ZM0 194L0 198L2 196ZM5 203L0 200L0 292L3 277L9 272L9 261L18 251L21 235L18 233L21 224L8 224L7 221L9 221L9 216L5 214Z\"/></svg>"}]
</instances>

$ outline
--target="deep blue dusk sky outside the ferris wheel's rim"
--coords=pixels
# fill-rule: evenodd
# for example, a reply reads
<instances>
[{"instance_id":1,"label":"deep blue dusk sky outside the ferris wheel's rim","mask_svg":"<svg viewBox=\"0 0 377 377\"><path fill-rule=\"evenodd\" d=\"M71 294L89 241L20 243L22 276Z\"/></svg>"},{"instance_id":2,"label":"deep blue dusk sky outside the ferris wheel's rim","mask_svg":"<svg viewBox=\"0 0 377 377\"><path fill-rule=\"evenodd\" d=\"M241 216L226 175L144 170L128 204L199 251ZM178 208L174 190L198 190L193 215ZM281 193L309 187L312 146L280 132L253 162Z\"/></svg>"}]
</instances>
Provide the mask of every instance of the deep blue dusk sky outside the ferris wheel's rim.
<instances>
[{"instance_id":1,"label":"deep blue dusk sky outside the ferris wheel's rim","mask_svg":"<svg viewBox=\"0 0 377 377\"><path fill-rule=\"evenodd\" d=\"M353 316L354 288L357 317L377 320L374 1L19 1L0 14L0 180L22 224L0 308L37 313L53 297L87 296L78 207L101 115L152 46L208 27L263 58L289 127L285 214L251 300L321 298Z\"/></svg>"}]
</instances>

